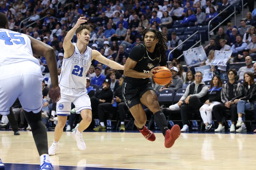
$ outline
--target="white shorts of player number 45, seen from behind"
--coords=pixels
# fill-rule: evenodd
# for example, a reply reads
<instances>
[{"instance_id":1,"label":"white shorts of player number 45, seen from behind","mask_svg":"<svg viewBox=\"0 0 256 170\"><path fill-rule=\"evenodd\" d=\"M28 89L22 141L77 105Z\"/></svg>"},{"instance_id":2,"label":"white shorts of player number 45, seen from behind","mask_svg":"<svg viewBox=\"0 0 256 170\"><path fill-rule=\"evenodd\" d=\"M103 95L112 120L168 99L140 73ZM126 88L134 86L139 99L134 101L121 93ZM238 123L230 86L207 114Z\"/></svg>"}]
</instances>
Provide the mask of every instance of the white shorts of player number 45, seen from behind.
<instances>
[{"instance_id":1,"label":"white shorts of player number 45, seen from behind","mask_svg":"<svg viewBox=\"0 0 256 170\"><path fill-rule=\"evenodd\" d=\"M0 114L8 115L10 107L19 98L27 112L38 113L43 106L41 68L25 61L0 67Z\"/></svg>"}]
</instances>

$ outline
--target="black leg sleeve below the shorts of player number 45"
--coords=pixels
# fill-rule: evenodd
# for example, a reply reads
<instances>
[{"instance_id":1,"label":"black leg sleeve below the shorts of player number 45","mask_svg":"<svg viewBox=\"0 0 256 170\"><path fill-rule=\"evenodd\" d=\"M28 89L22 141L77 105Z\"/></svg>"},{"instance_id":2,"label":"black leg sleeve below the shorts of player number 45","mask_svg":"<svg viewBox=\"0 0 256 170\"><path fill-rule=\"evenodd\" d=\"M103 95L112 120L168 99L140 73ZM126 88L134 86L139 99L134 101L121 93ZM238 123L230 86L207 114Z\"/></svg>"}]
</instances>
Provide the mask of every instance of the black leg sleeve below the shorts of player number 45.
<instances>
[{"instance_id":1,"label":"black leg sleeve below the shorts of player number 45","mask_svg":"<svg viewBox=\"0 0 256 170\"><path fill-rule=\"evenodd\" d=\"M31 127L31 131L36 143L39 155L48 154L47 134L44 123L42 122L42 111L39 113L24 111L25 118Z\"/></svg>"}]
</instances>

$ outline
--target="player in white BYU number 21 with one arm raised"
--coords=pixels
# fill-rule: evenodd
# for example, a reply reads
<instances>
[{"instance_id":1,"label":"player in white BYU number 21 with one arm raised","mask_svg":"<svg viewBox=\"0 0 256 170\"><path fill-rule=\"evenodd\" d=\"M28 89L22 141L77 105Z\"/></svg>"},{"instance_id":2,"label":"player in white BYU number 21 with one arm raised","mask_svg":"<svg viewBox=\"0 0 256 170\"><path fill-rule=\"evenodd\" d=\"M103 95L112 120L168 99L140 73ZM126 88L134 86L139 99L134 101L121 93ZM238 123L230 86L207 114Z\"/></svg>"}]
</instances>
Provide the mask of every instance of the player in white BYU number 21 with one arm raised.
<instances>
[{"instance_id":1,"label":"player in white BYU number 21 with one arm raised","mask_svg":"<svg viewBox=\"0 0 256 170\"><path fill-rule=\"evenodd\" d=\"M63 133L63 128L70 115L71 102L76 106L76 113L81 113L82 121L79 128L72 132L72 137L76 140L77 147L85 150L86 146L82 137L82 132L92 122L91 101L86 91L86 73L89 70L92 60L106 64L116 70L124 70L124 66L111 61L100 54L97 50L92 50L87 44L90 40L91 27L83 23L85 17L80 17L76 25L68 31L64 42L64 59L59 78L61 99L57 102L56 113L58 123L55 127L54 142L49 148L49 155L55 155L59 149L59 140ZM77 42L73 44L71 40L76 33Z\"/></svg>"}]
</instances>

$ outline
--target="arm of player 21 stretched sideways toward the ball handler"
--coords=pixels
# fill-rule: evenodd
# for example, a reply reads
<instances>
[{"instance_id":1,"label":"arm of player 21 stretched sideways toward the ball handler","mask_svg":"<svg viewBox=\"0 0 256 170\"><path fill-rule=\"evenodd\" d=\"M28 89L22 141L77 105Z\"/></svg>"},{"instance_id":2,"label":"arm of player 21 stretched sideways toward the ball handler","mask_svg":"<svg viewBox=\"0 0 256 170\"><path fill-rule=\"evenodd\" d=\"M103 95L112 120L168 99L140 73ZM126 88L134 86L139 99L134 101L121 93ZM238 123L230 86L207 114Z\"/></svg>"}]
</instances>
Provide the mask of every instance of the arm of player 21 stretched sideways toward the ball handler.
<instances>
[{"instance_id":1,"label":"arm of player 21 stretched sideways toward the ball handler","mask_svg":"<svg viewBox=\"0 0 256 170\"><path fill-rule=\"evenodd\" d=\"M108 58L104 57L103 55L100 54L99 51L97 50L92 50L92 60L97 60L98 62L100 63L103 63L113 69L116 69L116 70L124 70L124 66L119 64L119 63L116 63L112 60L109 60Z\"/></svg>"}]
</instances>

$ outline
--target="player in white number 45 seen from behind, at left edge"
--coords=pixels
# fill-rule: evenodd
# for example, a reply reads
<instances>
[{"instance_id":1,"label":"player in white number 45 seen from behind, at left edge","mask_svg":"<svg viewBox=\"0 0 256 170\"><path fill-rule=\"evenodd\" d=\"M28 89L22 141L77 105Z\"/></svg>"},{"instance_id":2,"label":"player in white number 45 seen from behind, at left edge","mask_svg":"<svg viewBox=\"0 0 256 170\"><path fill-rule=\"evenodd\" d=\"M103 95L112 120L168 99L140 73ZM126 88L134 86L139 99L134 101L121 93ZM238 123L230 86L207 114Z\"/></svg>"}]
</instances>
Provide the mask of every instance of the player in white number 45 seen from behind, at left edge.
<instances>
[{"instance_id":1,"label":"player in white number 45 seen from behind, at left edge","mask_svg":"<svg viewBox=\"0 0 256 170\"><path fill-rule=\"evenodd\" d=\"M11 31L8 25L8 19L0 12L0 114L8 115L19 98L40 155L40 169L51 170L47 134L42 122L43 75L33 54L44 56L47 61L52 79L49 91L52 102L60 100L56 55L52 47Z\"/></svg>"}]
</instances>

